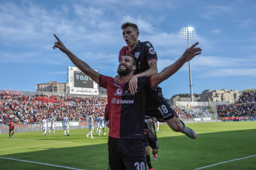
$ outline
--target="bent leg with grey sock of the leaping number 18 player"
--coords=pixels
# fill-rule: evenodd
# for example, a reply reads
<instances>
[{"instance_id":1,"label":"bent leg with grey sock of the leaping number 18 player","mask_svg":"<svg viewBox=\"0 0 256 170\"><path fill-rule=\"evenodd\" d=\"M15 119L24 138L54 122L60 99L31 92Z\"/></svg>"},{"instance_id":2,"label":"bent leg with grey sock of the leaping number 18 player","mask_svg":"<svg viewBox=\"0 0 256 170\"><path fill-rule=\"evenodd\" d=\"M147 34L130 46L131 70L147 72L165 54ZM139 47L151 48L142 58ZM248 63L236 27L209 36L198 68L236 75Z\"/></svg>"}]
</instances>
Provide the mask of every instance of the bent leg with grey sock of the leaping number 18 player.
<instances>
[{"instance_id":1,"label":"bent leg with grey sock of the leaping number 18 player","mask_svg":"<svg viewBox=\"0 0 256 170\"><path fill-rule=\"evenodd\" d=\"M175 132L181 132L187 135L188 137L192 139L196 139L197 135L194 130L191 128L185 126L185 124L178 118L173 117L166 121L166 123L170 126L170 128Z\"/></svg>"}]
</instances>

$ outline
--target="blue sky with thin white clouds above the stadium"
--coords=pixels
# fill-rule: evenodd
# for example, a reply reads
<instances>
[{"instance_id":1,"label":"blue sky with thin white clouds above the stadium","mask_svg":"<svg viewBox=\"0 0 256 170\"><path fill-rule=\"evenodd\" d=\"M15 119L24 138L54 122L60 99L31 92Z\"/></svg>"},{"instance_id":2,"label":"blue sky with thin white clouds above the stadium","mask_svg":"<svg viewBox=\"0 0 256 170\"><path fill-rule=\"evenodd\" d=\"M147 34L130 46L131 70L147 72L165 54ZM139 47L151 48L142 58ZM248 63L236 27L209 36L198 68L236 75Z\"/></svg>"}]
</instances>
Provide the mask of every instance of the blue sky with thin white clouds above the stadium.
<instances>
[{"instance_id":1,"label":"blue sky with thin white clouds above the stadium","mask_svg":"<svg viewBox=\"0 0 256 170\"><path fill-rule=\"evenodd\" d=\"M120 26L136 23L140 41L150 41L158 71L187 48L180 29L195 28L202 54L191 61L194 93L205 89L256 88L256 1L254 0L0 0L0 89L35 91L37 83L67 80L68 57L52 47L56 34L77 57L114 77ZM166 98L190 93L186 63L160 84Z\"/></svg>"}]
</instances>

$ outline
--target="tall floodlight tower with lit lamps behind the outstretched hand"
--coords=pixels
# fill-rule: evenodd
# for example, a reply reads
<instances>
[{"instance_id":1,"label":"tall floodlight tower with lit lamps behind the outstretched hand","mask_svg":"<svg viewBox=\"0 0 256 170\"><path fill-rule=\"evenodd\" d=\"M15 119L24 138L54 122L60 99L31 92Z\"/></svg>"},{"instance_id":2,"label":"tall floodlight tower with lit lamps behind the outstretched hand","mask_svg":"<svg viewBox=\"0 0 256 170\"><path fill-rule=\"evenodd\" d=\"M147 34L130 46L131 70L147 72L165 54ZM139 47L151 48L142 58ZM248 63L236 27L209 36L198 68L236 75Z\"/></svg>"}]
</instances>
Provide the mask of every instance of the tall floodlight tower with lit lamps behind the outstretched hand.
<instances>
[{"instance_id":1,"label":"tall floodlight tower with lit lamps behind the outstretched hand","mask_svg":"<svg viewBox=\"0 0 256 170\"><path fill-rule=\"evenodd\" d=\"M188 28L182 28L180 30L180 39L196 39L196 30L194 30L193 27L188 27ZM189 48L189 44L188 44ZM189 66L189 86L190 86L190 100L193 102L193 90L192 90L192 79L191 79L191 68L190 68L190 61L188 62Z\"/></svg>"}]
</instances>

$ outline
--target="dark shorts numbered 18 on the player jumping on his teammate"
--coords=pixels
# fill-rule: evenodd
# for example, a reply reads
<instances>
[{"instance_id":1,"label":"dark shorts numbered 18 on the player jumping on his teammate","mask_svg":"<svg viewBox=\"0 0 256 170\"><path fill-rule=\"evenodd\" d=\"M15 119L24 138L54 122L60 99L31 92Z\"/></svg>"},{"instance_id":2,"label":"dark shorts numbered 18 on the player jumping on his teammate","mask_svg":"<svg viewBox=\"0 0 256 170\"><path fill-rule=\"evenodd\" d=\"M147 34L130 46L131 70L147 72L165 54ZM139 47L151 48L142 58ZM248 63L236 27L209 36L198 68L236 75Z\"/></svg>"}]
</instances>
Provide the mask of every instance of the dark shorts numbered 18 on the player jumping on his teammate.
<instances>
[{"instance_id":1,"label":"dark shorts numbered 18 on the player jumping on his teammate","mask_svg":"<svg viewBox=\"0 0 256 170\"><path fill-rule=\"evenodd\" d=\"M179 117L168 101L163 97L162 88L156 86L156 90L149 91L146 95L145 114L164 122L174 116Z\"/></svg>"}]
</instances>

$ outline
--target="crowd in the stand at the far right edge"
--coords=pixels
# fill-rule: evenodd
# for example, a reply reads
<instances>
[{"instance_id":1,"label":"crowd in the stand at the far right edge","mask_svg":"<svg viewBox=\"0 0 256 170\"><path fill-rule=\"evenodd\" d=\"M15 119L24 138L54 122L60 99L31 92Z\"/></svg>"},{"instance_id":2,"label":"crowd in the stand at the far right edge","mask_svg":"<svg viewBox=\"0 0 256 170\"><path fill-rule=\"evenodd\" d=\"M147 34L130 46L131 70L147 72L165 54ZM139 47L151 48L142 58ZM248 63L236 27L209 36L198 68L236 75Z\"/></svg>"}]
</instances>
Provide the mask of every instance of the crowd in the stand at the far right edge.
<instances>
[{"instance_id":1,"label":"crowd in the stand at the far right edge","mask_svg":"<svg viewBox=\"0 0 256 170\"><path fill-rule=\"evenodd\" d=\"M220 117L256 116L256 92L243 92L236 104L217 105Z\"/></svg>"}]
</instances>

